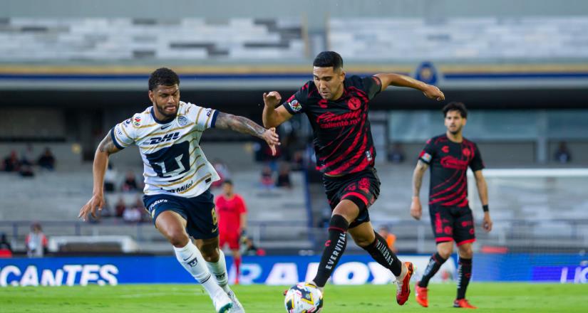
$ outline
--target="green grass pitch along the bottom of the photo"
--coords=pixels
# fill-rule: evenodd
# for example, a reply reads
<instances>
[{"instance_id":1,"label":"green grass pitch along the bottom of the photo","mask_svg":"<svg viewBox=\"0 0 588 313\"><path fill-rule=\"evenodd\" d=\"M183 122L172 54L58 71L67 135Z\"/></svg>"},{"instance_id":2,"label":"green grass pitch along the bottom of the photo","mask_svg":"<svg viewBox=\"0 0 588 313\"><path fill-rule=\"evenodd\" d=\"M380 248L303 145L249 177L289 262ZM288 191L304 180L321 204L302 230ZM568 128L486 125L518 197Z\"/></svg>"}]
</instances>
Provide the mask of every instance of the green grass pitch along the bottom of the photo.
<instances>
[{"instance_id":1,"label":"green grass pitch along the bottom of the photo","mask_svg":"<svg viewBox=\"0 0 588 313\"><path fill-rule=\"evenodd\" d=\"M455 285L430 285L425 309L411 299L400 307L393 285L326 287L323 312L453 312ZM235 286L249 313L285 312L282 286ZM468 299L478 312L588 312L588 285L473 283ZM0 312L214 312L196 285L0 287Z\"/></svg>"}]
</instances>

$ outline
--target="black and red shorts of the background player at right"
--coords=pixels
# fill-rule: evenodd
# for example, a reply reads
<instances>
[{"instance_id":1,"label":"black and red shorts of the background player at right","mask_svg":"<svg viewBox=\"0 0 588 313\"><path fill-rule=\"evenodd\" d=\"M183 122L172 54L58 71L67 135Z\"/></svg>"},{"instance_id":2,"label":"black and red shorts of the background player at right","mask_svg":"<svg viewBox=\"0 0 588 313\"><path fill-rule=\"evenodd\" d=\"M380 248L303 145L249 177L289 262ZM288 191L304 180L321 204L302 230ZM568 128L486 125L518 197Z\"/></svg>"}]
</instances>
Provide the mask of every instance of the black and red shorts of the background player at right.
<instances>
[{"instance_id":1,"label":"black and red shorts of the background player at right","mask_svg":"<svg viewBox=\"0 0 588 313\"><path fill-rule=\"evenodd\" d=\"M474 218L469 206L429 205L430 225L437 243L455 240L457 245L475 241Z\"/></svg>"}]
</instances>

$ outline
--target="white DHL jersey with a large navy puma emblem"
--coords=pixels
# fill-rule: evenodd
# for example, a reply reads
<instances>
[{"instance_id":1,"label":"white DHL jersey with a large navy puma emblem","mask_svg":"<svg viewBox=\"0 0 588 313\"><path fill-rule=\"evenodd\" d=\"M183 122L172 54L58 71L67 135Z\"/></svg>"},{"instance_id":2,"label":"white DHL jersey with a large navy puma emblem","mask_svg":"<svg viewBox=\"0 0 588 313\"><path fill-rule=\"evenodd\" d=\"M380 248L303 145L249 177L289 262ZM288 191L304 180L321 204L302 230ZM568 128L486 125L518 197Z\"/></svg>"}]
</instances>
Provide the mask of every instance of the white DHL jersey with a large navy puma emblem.
<instances>
[{"instance_id":1,"label":"white DHL jersey with a large navy puma emblem","mask_svg":"<svg viewBox=\"0 0 588 313\"><path fill-rule=\"evenodd\" d=\"M217 110L180 101L173 120L157 120L153 107L116 124L110 137L118 149L136 144L143 158L146 195L191 198L220 177L200 149L200 137L215 127Z\"/></svg>"}]
</instances>

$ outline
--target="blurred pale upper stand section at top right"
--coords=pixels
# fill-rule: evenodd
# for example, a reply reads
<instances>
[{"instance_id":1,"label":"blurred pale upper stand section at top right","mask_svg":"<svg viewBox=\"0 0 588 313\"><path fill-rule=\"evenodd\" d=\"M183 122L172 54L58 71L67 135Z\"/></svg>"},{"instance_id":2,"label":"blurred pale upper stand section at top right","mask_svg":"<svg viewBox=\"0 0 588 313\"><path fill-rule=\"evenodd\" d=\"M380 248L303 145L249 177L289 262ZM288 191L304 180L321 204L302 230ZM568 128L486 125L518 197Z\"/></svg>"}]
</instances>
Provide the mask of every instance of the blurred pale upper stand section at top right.
<instances>
[{"instance_id":1,"label":"blurred pale upper stand section at top right","mask_svg":"<svg viewBox=\"0 0 588 313\"><path fill-rule=\"evenodd\" d=\"M587 16L331 18L329 48L354 60L578 59Z\"/></svg>"}]
</instances>

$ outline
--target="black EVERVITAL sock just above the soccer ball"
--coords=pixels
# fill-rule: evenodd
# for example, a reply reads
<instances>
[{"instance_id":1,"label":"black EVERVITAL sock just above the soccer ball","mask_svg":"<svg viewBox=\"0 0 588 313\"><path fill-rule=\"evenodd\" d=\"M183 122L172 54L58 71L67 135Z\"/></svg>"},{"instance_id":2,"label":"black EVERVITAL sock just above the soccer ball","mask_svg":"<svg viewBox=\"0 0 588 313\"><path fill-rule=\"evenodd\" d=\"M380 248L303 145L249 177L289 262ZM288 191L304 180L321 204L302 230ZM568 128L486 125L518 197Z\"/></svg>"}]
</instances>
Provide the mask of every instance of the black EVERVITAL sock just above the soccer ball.
<instances>
[{"instance_id":1,"label":"black EVERVITAL sock just above the soccer ball","mask_svg":"<svg viewBox=\"0 0 588 313\"><path fill-rule=\"evenodd\" d=\"M329 224L329 240L326 240L323 256L319 263L319 270L316 272L314 282L318 287L324 287L326 281L331 277L333 269L341 259L347 245L347 228L349 223L340 215L331 217Z\"/></svg>"}]
</instances>

